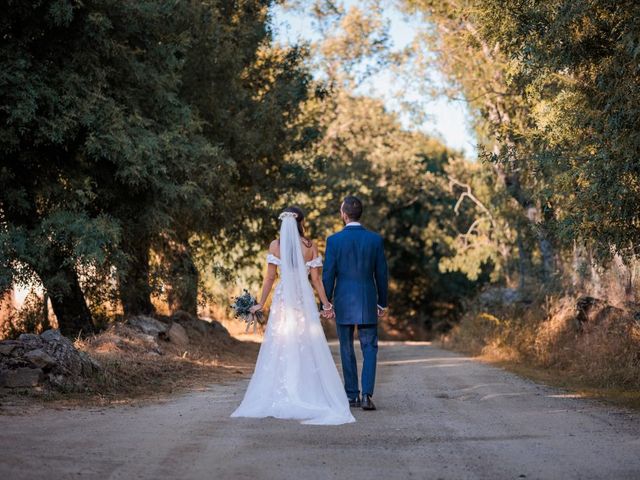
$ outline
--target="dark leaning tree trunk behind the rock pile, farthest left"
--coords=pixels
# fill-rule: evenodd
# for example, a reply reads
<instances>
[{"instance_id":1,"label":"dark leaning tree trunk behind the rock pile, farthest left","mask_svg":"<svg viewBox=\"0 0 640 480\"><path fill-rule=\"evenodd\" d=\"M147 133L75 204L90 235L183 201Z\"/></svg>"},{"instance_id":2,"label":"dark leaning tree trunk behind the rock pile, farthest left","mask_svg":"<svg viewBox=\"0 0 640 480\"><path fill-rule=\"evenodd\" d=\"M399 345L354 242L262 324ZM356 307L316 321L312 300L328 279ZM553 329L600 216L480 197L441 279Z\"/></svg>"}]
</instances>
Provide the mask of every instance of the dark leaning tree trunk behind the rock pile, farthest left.
<instances>
[{"instance_id":1,"label":"dark leaning tree trunk behind the rock pile, farthest left","mask_svg":"<svg viewBox=\"0 0 640 480\"><path fill-rule=\"evenodd\" d=\"M39 276L46 295L51 299L60 332L71 338L94 332L91 311L75 269L65 264L61 256L56 256L50 266L53 268L40 271Z\"/></svg>"}]
</instances>

